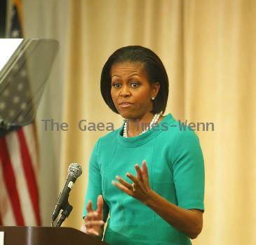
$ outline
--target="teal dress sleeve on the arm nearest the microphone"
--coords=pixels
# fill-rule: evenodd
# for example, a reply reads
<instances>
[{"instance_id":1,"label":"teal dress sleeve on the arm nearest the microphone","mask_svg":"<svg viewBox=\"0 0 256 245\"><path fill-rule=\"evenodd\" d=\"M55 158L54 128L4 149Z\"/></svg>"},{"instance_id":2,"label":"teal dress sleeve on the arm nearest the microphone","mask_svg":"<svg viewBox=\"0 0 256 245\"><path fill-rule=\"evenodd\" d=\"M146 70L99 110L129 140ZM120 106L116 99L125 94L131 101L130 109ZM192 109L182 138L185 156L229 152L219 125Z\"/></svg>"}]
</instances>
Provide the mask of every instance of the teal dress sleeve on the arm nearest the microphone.
<instances>
[{"instance_id":1,"label":"teal dress sleeve on the arm nearest the microphone","mask_svg":"<svg viewBox=\"0 0 256 245\"><path fill-rule=\"evenodd\" d=\"M97 197L98 195L102 195L102 176L100 172L100 165L98 162L98 151L99 151L100 139L96 142L93 147L93 152L90 155L89 162L89 170L88 170L88 186L86 191L86 197L83 206L83 218L87 214L86 206L88 201L91 200L93 202L93 209L97 209ZM104 197L103 197L104 200ZM109 214L109 207L107 203L104 201L103 204L103 221L107 221L107 216Z\"/></svg>"}]
</instances>

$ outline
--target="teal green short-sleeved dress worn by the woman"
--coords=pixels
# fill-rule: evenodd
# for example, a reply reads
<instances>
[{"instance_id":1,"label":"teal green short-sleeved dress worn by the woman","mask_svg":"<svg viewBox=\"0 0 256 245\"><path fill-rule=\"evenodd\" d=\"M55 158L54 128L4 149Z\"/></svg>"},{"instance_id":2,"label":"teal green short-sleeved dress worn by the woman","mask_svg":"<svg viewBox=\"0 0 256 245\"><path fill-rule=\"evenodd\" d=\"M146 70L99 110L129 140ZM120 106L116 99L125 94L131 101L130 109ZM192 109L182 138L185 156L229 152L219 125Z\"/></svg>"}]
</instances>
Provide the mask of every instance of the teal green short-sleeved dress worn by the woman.
<instances>
[{"instance_id":1,"label":"teal green short-sleeved dress worn by the woman","mask_svg":"<svg viewBox=\"0 0 256 245\"><path fill-rule=\"evenodd\" d=\"M97 196L104 199L103 238L108 244L191 244L190 239L173 228L139 200L112 184L119 175L132 183L126 173L136 176L134 165L146 160L152 190L184 209L204 210L204 165L198 137L182 128L169 113L159 127L136 137L124 138L123 125L101 137L90 156L86 204ZM107 216L109 218L107 220Z\"/></svg>"}]
</instances>

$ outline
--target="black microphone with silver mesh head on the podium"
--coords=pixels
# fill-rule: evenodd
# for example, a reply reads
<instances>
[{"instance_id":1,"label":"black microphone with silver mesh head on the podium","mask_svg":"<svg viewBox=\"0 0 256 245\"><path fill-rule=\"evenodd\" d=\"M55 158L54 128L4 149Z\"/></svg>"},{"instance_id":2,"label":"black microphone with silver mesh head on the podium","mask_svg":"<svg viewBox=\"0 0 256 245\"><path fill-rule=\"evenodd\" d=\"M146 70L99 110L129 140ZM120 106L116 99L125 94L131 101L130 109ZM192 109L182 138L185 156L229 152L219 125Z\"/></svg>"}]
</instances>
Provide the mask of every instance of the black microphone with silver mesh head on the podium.
<instances>
[{"instance_id":1,"label":"black microphone with silver mesh head on the podium","mask_svg":"<svg viewBox=\"0 0 256 245\"><path fill-rule=\"evenodd\" d=\"M68 202L69 193L70 193L70 190L72 189L72 186L76 182L76 179L81 174L82 174L82 167L81 165L79 165L79 163L72 163L71 165L69 165L69 168L67 169L67 179L66 179L65 186L59 195L57 204L55 206L55 210L53 211L52 224L60 214L60 210L67 211L66 217L69 216L69 214L71 213L72 206L69 205L69 202Z\"/></svg>"}]
</instances>

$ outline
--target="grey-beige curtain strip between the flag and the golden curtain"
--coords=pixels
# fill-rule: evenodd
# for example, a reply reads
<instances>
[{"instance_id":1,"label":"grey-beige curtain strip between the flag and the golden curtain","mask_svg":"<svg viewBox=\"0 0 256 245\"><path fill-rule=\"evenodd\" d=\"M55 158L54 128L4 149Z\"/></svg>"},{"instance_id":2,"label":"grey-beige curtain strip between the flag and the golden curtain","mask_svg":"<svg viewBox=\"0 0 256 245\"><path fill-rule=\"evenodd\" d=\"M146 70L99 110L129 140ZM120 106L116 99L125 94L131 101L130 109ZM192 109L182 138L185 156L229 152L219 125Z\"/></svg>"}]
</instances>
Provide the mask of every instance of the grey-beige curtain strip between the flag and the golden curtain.
<instances>
[{"instance_id":1,"label":"grey-beige curtain strip between the flag and the golden curtain","mask_svg":"<svg viewBox=\"0 0 256 245\"><path fill-rule=\"evenodd\" d=\"M10 0L11 1L11 0ZM42 225L50 225L51 215L58 199L60 188L60 142L61 132L45 130L43 121L53 119L62 122L62 96L65 86L67 52L68 0L22 0L25 38L54 38L60 43L36 115L39 134L39 194ZM11 13L10 13L11 14ZM66 171L67 174L67 171Z\"/></svg>"}]
</instances>

